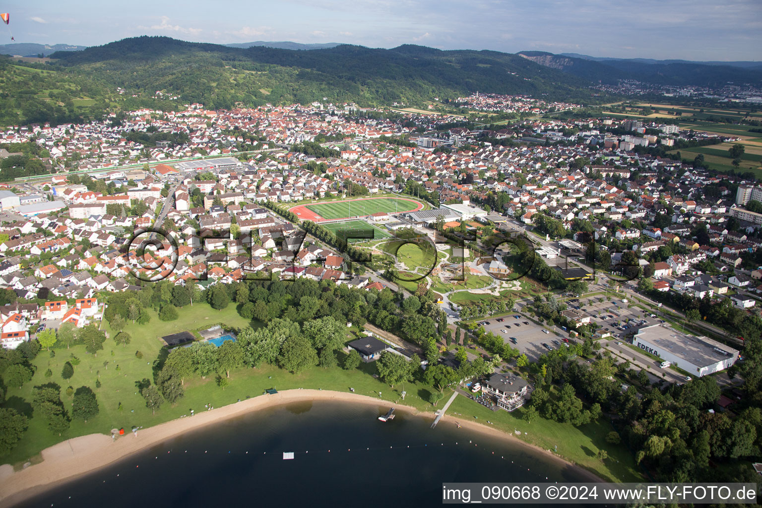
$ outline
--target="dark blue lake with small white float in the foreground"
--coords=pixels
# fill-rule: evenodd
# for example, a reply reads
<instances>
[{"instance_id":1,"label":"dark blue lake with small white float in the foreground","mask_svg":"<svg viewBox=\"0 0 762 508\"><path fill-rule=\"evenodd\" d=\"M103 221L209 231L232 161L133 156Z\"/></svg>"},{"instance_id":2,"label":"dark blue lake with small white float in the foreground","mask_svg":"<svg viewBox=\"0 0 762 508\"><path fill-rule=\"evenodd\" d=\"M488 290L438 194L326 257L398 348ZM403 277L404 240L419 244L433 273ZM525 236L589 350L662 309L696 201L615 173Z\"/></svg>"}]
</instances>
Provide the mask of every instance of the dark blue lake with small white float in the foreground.
<instances>
[{"instance_id":1,"label":"dark blue lake with small white float in the foreground","mask_svg":"<svg viewBox=\"0 0 762 508\"><path fill-rule=\"evenodd\" d=\"M451 422L431 429L431 417L399 410L394 420L377 420L388 409L333 401L269 407L170 439L18 506L439 506L446 481L584 481L521 443Z\"/></svg>"}]
</instances>

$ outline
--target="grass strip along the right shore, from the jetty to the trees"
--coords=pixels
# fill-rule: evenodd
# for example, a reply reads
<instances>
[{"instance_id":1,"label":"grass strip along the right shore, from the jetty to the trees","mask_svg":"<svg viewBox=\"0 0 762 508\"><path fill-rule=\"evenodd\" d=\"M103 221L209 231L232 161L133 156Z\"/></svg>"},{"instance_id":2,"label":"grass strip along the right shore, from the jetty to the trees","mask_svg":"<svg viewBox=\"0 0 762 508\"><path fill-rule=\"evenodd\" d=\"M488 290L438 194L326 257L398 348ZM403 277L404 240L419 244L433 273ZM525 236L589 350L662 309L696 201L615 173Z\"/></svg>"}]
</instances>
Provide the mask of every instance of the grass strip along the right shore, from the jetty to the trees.
<instances>
[{"instance_id":1,"label":"grass strip along the right shore, from the jetty to the trees","mask_svg":"<svg viewBox=\"0 0 762 508\"><path fill-rule=\"evenodd\" d=\"M521 418L523 415L521 409L511 413L491 411L465 397L458 397L453 401L448 410L448 413L451 412L477 417L477 420L482 423L486 420L495 422L493 427L505 433L514 433L514 430L519 430L521 436L516 437L542 449L552 450L554 446L558 446L559 455L593 471L604 480L641 481L643 479L626 446L606 443L606 435L614 429L610 423L604 421L603 417L597 422L581 427L573 427L570 423L558 423L542 417L527 423ZM524 434L525 432L527 434ZM605 449L609 453L609 458L604 462L596 458L599 449Z\"/></svg>"}]
</instances>

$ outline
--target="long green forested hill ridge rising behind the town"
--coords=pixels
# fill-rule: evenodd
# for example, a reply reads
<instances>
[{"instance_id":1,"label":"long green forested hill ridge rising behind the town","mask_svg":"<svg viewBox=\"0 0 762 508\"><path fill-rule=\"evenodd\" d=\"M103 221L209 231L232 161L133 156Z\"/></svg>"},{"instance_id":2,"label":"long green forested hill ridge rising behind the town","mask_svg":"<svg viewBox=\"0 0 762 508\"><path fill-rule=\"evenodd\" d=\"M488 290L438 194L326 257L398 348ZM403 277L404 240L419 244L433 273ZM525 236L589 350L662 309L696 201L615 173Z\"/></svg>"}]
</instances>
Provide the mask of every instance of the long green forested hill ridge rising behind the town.
<instances>
[{"instance_id":1,"label":"long green forested hill ridge rising behind the town","mask_svg":"<svg viewBox=\"0 0 762 508\"><path fill-rule=\"evenodd\" d=\"M421 104L473 91L591 97L588 81L493 51L392 50L341 45L298 51L233 48L168 37L136 37L79 52L59 52L53 69L85 72L128 91L168 91L207 107L356 101Z\"/></svg>"}]
</instances>

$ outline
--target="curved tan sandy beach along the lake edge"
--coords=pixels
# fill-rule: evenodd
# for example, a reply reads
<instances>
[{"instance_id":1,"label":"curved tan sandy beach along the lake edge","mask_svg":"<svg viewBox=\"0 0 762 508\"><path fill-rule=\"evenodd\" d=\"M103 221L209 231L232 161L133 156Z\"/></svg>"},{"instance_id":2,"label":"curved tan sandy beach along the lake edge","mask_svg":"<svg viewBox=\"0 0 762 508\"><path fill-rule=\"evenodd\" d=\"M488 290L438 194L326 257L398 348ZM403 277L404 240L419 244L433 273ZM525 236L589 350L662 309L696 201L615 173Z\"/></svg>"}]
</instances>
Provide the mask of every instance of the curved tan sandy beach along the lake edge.
<instances>
[{"instance_id":1,"label":"curved tan sandy beach along the lake edge","mask_svg":"<svg viewBox=\"0 0 762 508\"><path fill-rule=\"evenodd\" d=\"M137 452L142 452L174 436L206 427L219 420L237 417L263 407L272 407L290 402L318 400L352 402L354 404L359 403L373 406L388 406L390 404L389 401L382 401L367 395L355 395L329 390L296 389L280 391L275 395L260 395L245 401L236 402L235 404L216 408L213 411L201 411L194 417L178 418L165 423L159 423L155 427L139 430L137 437L128 432L116 441L112 441L111 437L105 434L89 434L88 436L67 439L62 443L44 449L41 452L43 462L40 462L40 464L31 465L26 469L16 472L11 472L8 465L2 466L2 471L0 471L0 508L19 503L21 500L40 494L66 481L71 481L84 474L97 471L100 468L118 462ZM429 416L432 420L434 419L434 413L429 411L419 411L415 407L405 406L404 404L394 404L394 406L399 410L408 411L411 414ZM580 474L589 478L589 481L602 481L591 471L573 465L571 462L567 462L547 450L524 443L515 436L501 432L493 427L469 420L461 421L456 417L447 415L442 418L442 421L449 423L459 421L463 428L501 439L513 439L516 443L521 443L523 446L543 452L558 462L577 468Z\"/></svg>"}]
</instances>

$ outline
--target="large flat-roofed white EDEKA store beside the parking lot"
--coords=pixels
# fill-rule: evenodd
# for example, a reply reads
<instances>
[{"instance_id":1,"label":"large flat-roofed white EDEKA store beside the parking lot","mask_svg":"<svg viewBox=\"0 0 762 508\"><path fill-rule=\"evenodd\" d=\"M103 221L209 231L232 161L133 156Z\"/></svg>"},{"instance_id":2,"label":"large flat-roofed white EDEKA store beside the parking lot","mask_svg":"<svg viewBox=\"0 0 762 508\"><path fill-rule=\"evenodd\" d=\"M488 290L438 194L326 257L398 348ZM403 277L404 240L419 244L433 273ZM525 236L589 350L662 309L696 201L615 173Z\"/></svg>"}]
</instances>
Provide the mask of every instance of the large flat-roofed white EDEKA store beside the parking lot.
<instances>
[{"instance_id":1,"label":"large flat-roofed white EDEKA store beside the parking lot","mask_svg":"<svg viewBox=\"0 0 762 508\"><path fill-rule=\"evenodd\" d=\"M732 347L661 324L641 328L632 343L698 377L727 369L738 359L738 350Z\"/></svg>"}]
</instances>

